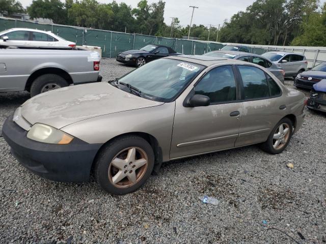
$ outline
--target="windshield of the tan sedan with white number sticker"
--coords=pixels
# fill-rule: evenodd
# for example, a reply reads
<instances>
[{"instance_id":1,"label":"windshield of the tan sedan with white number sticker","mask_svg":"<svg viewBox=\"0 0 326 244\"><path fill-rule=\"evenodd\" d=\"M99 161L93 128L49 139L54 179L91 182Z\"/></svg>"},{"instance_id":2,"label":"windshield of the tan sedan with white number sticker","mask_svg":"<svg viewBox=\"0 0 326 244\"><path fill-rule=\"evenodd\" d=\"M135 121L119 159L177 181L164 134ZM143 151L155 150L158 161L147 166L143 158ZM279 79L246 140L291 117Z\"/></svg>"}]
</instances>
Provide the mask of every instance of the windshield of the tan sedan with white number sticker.
<instances>
[{"instance_id":1,"label":"windshield of the tan sedan with white number sticker","mask_svg":"<svg viewBox=\"0 0 326 244\"><path fill-rule=\"evenodd\" d=\"M161 58L154 60L118 80L141 92L141 97L171 102L205 67L185 61Z\"/></svg>"}]
</instances>

